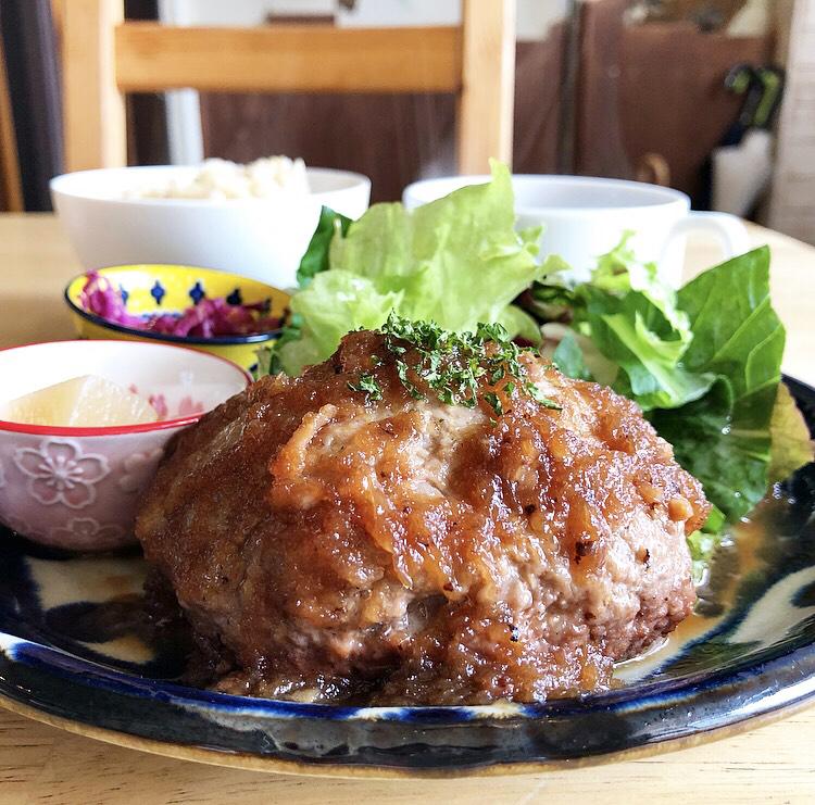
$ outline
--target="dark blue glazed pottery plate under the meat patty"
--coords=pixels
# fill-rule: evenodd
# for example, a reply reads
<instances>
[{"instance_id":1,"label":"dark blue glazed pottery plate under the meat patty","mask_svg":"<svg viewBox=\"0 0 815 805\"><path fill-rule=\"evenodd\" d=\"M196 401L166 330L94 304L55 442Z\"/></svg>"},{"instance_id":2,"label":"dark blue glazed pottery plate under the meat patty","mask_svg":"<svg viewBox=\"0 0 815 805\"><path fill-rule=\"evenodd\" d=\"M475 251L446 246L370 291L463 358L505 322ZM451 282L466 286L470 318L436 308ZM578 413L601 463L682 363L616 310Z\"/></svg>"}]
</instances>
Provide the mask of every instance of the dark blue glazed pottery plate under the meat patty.
<instances>
[{"instance_id":1,"label":"dark blue glazed pottery plate under the meat patty","mask_svg":"<svg viewBox=\"0 0 815 805\"><path fill-rule=\"evenodd\" d=\"M815 390L788 380L811 430ZM732 533L698 614L617 668L617 687L544 704L355 707L186 688L151 644L146 566L0 533L0 704L123 745L303 773L512 773L698 742L815 696L815 464Z\"/></svg>"}]
</instances>

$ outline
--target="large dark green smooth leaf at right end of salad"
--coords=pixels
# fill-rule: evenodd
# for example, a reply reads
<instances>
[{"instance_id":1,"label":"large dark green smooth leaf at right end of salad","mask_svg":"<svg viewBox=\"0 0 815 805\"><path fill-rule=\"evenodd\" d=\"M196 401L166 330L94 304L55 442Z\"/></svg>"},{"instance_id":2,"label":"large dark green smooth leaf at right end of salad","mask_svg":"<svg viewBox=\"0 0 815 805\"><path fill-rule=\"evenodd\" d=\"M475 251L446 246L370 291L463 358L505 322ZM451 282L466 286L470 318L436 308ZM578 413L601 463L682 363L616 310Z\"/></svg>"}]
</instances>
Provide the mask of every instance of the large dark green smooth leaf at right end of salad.
<instances>
[{"instance_id":1,"label":"large dark green smooth leaf at right end of salad","mask_svg":"<svg viewBox=\"0 0 815 805\"><path fill-rule=\"evenodd\" d=\"M702 399L655 412L652 423L679 463L729 521L769 482L770 422L781 379L785 330L769 300L765 247L700 274L678 293L693 340L682 362L717 380Z\"/></svg>"}]
</instances>

